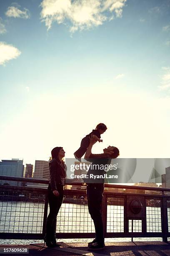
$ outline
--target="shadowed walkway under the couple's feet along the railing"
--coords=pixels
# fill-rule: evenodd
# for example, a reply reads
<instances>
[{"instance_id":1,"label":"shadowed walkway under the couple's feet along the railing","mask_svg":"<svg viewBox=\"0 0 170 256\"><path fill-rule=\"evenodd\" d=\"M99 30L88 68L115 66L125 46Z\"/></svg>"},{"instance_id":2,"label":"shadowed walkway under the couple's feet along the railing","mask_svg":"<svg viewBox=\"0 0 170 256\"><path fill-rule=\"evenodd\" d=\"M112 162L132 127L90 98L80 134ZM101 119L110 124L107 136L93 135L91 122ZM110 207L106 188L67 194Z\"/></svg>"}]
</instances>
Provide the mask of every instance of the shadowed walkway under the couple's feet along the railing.
<instances>
[{"instance_id":1,"label":"shadowed walkway under the couple's feet along the railing","mask_svg":"<svg viewBox=\"0 0 170 256\"><path fill-rule=\"evenodd\" d=\"M4 248L27 248L29 256L57 256L57 255L86 255L86 256L170 256L170 243L163 242L115 242L105 243L106 247L101 251L87 251L87 243L63 243L60 247L47 248L42 243L28 245L0 245L0 253ZM19 255L18 253L5 253L7 255ZM23 253L22 253L23 254Z\"/></svg>"}]
</instances>

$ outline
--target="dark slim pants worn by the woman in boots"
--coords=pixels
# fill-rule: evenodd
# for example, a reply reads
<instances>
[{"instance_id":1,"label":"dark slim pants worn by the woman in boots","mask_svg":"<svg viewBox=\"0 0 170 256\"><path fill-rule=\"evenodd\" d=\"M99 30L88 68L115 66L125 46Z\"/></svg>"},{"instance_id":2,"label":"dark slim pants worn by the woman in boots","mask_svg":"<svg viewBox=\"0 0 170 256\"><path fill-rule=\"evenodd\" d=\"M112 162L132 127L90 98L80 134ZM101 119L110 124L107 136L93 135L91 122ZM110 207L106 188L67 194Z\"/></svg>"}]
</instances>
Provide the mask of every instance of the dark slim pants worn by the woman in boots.
<instances>
[{"instance_id":1,"label":"dark slim pants worn by the woman in boots","mask_svg":"<svg viewBox=\"0 0 170 256\"><path fill-rule=\"evenodd\" d=\"M63 186L57 186L57 191L59 192L59 197L56 197L50 185L47 189L48 193L48 202L50 206L50 212L46 220L46 240L47 241L54 241L55 240L55 233L56 233L56 224L57 224L57 214L60 210L63 200Z\"/></svg>"}]
</instances>

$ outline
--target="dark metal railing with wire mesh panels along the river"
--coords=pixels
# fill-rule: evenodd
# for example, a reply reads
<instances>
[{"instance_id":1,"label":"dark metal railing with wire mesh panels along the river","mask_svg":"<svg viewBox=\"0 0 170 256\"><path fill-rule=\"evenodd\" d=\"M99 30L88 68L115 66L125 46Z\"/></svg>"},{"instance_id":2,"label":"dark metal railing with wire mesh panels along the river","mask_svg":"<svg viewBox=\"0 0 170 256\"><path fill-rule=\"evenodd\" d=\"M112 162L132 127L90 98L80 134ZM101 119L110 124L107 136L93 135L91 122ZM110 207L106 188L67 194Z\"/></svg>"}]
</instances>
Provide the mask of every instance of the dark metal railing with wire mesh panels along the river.
<instances>
[{"instance_id":1,"label":"dark metal railing with wire mesh panels along the river","mask_svg":"<svg viewBox=\"0 0 170 256\"><path fill-rule=\"evenodd\" d=\"M47 180L31 178L0 176L0 180L48 184ZM80 183L67 185L75 189L64 191L56 237L92 238L95 228L86 191L80 189ZM105 184L105 237L162 237L166 242L170 237L169 193L168 188ZM0 239L43 239L48 211L46 188L0 185Z\"/></svg>"}]
</instances>

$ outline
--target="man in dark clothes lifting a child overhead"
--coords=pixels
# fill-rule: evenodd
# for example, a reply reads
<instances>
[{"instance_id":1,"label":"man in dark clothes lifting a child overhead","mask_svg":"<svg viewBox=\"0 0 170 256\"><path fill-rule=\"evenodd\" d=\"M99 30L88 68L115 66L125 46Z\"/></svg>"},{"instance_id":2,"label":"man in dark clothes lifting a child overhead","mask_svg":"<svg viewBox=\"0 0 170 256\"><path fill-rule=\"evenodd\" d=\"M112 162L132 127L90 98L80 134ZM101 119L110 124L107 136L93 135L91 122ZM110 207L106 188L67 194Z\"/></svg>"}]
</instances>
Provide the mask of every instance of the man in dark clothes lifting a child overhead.
<instances>
[{"instance_id":1,"label":"man in dark clothes lifting a child overhead","mask_svg":"<svg viewBox=\"0 0 170 256\"><path fill-rule=\"evenodd\" d=\"M89 250L101 250L105 247L101 214L101 204L105 179L102 177L99 179L90 179L89 177L90 174L98 174L102 176L105 173L105 170L100 168L100 166L110 164L111 159L119 156L119 150L114 146L108 146L107 148L104 148L102 154L92 154L92 146L95 144L95 142L95 138L90 136L90 144L85 153L85 159L92 162L91 168L87 172L88 178L84 179L84 181L87 184L88 209L94 222L96 233L95 239L91 243L88 243ZM97 169L96 166L98 166Z\"/></svg>"}]
</instances>

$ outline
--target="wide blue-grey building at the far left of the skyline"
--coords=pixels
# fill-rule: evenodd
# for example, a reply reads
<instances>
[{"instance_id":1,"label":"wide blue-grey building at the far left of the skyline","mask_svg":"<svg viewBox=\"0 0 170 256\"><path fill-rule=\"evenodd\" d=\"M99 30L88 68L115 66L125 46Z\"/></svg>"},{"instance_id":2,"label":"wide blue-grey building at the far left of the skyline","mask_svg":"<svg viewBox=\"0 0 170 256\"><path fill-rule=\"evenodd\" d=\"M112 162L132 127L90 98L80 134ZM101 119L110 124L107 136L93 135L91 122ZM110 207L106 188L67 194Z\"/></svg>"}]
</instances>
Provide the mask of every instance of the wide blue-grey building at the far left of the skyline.
<instances>
[{"instance_id":1,"label":"wide blue-grey building at the far left of the skyline","mask_svg":"<svg viewBox=\"0 0 170 256\"><path fill-rule=\"evenodd\" d=\"M12 160L2 160L0 162L0 175L2 176L23 177L23 172L24 172L23 160L12 158ZM8 181L8 180L7 181L0 180L0 184L21 186L21 182Z\"/></svg>"}]
</instances>

